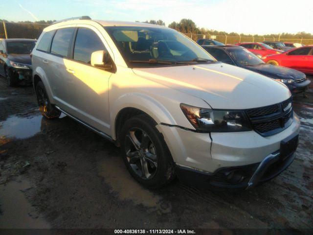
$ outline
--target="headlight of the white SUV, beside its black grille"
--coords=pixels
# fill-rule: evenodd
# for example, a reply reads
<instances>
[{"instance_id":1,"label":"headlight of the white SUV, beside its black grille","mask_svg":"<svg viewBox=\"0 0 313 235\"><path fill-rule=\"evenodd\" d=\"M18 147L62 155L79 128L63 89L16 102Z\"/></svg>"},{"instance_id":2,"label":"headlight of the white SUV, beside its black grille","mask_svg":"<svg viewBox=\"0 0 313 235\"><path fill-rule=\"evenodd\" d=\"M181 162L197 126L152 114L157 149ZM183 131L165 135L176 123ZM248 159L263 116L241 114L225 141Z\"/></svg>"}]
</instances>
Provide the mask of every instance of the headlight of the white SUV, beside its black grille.
<instances>
[{"instance_id":1,"label":"headlight of the white SUV, beside its black grille","mask_svg":"<svg viewBox=\"0 0 313 235\"><path fill-rule=\"evenodd\" d=\"M190 123L200 132L250 131L251 127L243 111L212 110L180 104Z\"/></svg>"}]
</instances>

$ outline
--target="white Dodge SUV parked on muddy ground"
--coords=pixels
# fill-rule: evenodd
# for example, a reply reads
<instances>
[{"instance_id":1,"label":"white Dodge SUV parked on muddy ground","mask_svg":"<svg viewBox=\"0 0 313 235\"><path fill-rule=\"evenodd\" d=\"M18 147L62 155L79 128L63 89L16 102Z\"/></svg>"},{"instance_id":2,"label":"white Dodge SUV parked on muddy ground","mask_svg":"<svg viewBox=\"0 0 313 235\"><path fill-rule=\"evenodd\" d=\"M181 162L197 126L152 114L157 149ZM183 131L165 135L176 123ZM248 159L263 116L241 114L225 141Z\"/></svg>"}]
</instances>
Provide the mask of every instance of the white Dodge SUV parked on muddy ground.
<instances>
[{"instance_id":1,"label":"white Dodge SUV parked on muddy ground","mask_svg":"<svg viewBox=\"0 0 313 235\"><path fill-rule=\"evenodd\" d=\"M45 28L32 64L42 114L63 112L113 141L146 187L177 175L246 189L294 159L299 118L288 88L217 62L176 30L64 20Z\"/></svg>"}]
</instances>

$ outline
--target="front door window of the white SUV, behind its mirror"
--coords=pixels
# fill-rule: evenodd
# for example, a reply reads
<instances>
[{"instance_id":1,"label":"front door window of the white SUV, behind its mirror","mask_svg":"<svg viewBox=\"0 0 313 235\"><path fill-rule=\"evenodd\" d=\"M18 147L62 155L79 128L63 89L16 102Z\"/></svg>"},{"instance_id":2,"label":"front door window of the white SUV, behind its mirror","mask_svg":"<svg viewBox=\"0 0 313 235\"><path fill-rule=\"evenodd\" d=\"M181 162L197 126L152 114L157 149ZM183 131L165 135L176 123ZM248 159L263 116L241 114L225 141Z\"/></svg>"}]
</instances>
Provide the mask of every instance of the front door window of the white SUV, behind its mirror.
<instances>
[{"instance_id":1,"label":"front door window of the white SUV, behind its mirror","mask_svg":"<svg viewBox=\"0 0 313 235\"><path fill-rule=\"evenodd\" d=\"M89 28L78 28L74 60L90 64L91 54L97 50L106 50L99 36Z\"/></svg>"}]
</instances>

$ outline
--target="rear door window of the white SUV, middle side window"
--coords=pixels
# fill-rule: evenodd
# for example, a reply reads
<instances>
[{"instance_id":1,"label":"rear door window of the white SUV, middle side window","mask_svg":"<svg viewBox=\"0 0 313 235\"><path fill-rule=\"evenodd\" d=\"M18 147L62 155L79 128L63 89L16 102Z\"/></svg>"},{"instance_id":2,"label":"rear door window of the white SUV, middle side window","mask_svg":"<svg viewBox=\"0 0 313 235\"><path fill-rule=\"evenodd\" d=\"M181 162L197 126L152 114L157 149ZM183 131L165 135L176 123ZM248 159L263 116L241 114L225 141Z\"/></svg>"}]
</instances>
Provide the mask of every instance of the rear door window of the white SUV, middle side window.
<instances>
[{"instance_id":1,"label":"rear door window of the white SUV, middle side window","mask_svg":"<svg viewBox=\"0 0 313 235\"><path fill-rule=\"evenodd\" d=\"M51 53L62 57L67 57L74 29L75 28L70 27L57 30L53 37Z\"/></svg>"}]
</instances>

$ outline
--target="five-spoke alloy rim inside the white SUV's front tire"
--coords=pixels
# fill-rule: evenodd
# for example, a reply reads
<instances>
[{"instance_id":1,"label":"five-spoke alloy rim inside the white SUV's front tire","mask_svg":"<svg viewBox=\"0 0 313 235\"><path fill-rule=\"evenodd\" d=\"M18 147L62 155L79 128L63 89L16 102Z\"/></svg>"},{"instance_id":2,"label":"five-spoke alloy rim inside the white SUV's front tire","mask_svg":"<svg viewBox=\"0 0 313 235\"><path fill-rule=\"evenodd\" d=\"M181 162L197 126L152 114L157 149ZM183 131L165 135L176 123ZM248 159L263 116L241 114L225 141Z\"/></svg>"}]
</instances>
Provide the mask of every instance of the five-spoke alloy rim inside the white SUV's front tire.
<instances>
[{"instance_id":1,"label":"five-spoke alloy rim inside the white SUV's front tire","mask_svg":"<svg viewBox=\"0 0 313 235\"><path fill-rule=\"evenodd\" d=\"M152 179L157 171L156 147L147 133L132 128L125 139L127 161L132 170L143 180Z\"/></svg>"}]
</instances>

